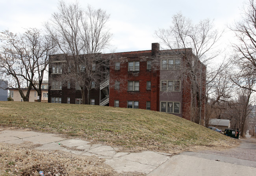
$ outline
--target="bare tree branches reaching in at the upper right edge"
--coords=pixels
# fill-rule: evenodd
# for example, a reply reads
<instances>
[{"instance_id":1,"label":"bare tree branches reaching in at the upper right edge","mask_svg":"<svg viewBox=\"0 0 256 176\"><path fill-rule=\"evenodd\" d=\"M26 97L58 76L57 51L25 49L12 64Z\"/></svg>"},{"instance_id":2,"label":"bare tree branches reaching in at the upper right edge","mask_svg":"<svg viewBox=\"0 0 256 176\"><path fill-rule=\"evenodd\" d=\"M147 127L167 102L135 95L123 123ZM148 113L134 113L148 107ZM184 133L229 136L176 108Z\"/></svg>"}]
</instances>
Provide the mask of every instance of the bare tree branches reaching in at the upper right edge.
<instances>
[{"instance_id":1,"label":"bare tree branches reaching in at the upper right edge","mask_svg":"<svg viewBox=\"0 0 256 176\"><path fill-rule=\"evenodd\" d=\"M233 44L236 51L234 63L240 69L243 76L256 75L256 4L249 0L244 6L242 19L230 27L234 31L237 42ZM248 89L248 87L243 87ZM255 87L251 87L256 91Z\"/></svg>"}]
</instances>

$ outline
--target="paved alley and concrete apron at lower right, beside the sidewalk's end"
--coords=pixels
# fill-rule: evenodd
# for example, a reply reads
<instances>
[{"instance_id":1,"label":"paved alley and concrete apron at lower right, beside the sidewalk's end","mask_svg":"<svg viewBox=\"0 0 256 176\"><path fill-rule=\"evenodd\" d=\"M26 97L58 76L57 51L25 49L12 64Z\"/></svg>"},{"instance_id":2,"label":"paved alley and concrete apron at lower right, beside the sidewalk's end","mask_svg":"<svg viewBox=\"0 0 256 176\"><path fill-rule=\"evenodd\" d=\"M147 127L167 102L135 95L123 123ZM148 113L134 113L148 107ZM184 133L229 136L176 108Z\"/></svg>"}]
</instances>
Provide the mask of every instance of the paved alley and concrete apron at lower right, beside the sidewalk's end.
<instances>
[{"instance_id":1,"label":"paved alley and concrete apron at lower right, beside the sidewalk's end","mask_svg":"<svg viewBox=\"0 0 256 176\"><path fill-rule=\"evenodd\" d=\"M256 139L239 141L239 147L230 150L172 156L147 176L256 176Z\"/></svg>"}]
</instances>

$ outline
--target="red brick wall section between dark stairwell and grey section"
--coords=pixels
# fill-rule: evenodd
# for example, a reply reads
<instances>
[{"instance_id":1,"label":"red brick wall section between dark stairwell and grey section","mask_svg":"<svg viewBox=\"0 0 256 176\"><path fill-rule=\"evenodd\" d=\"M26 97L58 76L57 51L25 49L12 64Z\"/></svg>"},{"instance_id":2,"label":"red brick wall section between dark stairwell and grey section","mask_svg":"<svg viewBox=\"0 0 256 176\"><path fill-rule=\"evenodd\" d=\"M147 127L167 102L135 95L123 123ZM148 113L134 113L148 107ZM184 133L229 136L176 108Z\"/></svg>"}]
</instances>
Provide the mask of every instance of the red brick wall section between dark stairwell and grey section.
<instances>
[{"instance_id":1,"label":"red brick wall section between dark stairwell and grey section","mask_svg":"<svg viewBox=\"0 0 256 176\"><path fill-rule=\"evenodd\" d=\"M139 101L139 109L146 109L150 101L150 109L158 111L159 73L147 70L147 60L151 53L122 53L115 61L110 62L109 69L109 106L119 100L119 107L127 107L127 101ZM139 71L128 71L129 61L139 61ZM120 62L120 70L115 70L115 62ZM120 81L120 89L115 89L115 81ZM139 91L128 91L128 81L139 81ZM147 81L151 81L151 90L147 90Z\"/></svg>"}]
</instances>

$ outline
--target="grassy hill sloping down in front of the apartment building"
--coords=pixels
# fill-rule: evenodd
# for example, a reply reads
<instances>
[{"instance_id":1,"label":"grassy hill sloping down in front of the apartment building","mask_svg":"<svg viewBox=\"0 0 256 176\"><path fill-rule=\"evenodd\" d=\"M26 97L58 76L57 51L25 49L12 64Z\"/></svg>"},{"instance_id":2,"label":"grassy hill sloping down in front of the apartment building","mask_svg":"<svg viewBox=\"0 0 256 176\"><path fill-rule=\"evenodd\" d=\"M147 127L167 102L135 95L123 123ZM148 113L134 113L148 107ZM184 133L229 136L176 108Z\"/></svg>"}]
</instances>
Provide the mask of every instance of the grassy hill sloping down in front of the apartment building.
<instances>
[{"instance_id":1,"label":"grassy hill sloping down in front of the apartment building","mask_svg":"<svg viewBox=\"0 0 256 176\"><path fill-rule=\"evenodd\" d=\"M137 151L171 152L237 143L171 114L97 105L0 102L0 125L76 136Z\"/></svg>"}]
</instances>

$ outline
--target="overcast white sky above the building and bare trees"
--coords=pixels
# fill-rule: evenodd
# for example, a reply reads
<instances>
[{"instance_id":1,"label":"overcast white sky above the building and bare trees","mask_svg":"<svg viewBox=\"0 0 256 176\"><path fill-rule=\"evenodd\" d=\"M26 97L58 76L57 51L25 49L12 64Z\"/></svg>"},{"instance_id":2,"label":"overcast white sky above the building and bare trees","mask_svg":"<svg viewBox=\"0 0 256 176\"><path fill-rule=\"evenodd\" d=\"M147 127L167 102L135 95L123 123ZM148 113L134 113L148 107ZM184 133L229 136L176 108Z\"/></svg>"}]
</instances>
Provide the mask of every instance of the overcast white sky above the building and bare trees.
<instances>
[{"instance_id":1,"label":"overcast white sky above the building and bare trees","mask_svg":"<svg viewBox=\"0 0 256 176\"><path fill-rule=\"evenodd\" d=\"M66 0L75 2L75 0ZM167 28L174 14L198 22L214 20L219 29L240 18L244 0L80 0L82 7L90 4L111 15L109 27L115 52L151 49L159 42L154 31ZM42 28L52 13L58 11L58 0L0 0L0 31L22 32L24 28ZM226 40L230 35L226 34Z\"/></svg>"}]
</instances>

